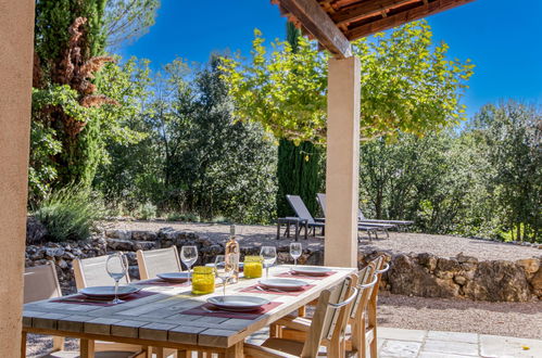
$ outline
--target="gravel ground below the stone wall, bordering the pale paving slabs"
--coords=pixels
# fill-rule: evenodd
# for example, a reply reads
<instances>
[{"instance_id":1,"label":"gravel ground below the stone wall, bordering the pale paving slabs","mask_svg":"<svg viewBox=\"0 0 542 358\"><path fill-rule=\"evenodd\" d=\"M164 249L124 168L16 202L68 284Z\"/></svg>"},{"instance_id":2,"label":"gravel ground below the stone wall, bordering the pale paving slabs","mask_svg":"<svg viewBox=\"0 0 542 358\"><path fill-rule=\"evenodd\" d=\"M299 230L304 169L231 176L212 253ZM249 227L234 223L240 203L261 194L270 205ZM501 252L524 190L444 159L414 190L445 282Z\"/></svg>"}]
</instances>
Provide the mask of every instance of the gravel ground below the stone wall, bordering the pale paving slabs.
<instances>
[{"instance_id":1,"label":"gravel ground below the stone wall, bordering the pale paving slabs","mask_svg":"<svg viewBox=\"0 0 542 358\"><path fill-rule=\"evenodd\" d=\"M471 332L542 337L542 303L489 303L467 299L421 298L380 292L378 321L382 327L407 330ZM38 357L51 348L48 336L28 335L27 357ZM68 338L66 348L76 350Z\"/></svg>"}]
</instances>

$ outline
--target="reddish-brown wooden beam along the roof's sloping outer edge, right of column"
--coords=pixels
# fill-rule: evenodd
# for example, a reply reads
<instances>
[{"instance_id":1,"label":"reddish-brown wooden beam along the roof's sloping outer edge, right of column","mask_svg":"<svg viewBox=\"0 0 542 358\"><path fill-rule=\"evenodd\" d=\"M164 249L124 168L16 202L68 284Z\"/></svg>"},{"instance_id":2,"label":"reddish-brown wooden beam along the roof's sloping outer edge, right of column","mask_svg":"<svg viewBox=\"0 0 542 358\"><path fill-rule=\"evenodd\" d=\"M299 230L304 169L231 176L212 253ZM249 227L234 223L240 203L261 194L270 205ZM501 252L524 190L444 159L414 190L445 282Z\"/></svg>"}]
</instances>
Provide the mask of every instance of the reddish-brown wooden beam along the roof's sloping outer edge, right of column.
<instances>
[{"instance_id":1,"label":"reddish-brown wooden beam along the roof's sloping outer edge, right of column","mask_svg":"<svg viewBox=\"0 0 542 358\"><path fill-rule=\"evenodd\" d=\"M403 25L405 23L409 23L412 21L419 20L432 14L437 14L439 12L450 10L472 1L475 0L436 0L407 11L388 15L388 17L374 21L369 24L354 27L346 31L345 35L350 41L353 41L361 37L380 33L389 28Z\"/></svg>"}]
</instances>

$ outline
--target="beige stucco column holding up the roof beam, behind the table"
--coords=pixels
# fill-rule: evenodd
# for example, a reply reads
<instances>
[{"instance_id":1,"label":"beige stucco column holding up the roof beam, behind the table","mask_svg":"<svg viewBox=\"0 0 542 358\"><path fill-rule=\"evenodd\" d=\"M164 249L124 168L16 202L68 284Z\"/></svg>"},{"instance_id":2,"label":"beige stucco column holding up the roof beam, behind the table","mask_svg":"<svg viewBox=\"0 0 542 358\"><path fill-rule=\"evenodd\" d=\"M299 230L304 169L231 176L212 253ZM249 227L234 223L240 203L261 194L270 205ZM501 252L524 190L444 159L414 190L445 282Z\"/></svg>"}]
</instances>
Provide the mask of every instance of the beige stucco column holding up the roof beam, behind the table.
<instances>
[{"instance_id":1,"label":"beige stucco column holding up the roof beam, behind the table","mask_svg":"<svg viewBox=\"0 0 542 358\"><path fill-rule=\"evenodd\" d=\"M357 267L360 59L329 60L326 242L327 266Z\"/></svg>"}]
</instances>

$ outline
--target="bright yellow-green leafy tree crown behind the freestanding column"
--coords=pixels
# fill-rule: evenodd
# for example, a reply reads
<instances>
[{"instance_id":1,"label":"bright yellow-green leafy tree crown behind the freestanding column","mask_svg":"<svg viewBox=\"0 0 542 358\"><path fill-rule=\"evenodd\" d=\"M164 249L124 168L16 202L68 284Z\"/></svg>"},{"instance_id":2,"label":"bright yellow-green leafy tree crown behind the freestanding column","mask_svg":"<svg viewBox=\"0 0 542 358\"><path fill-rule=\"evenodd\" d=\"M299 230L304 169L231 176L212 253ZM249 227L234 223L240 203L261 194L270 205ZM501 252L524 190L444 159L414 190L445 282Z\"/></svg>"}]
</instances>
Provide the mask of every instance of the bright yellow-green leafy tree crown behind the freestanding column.
<instances>
[{"instance_id":1,"label":"bright yellow-green leafy tree crown behind the freestanding column","mask_svg":"<svg viewBox=\"0 0 542 358\"><path fill-rule=\"evenodd\" d=\"M363 139L424 135L463 118L459 99L474 65L449 60L448 46L434 46L431 36L421 21L353 42L362 62ZM236 116L259 122L279 138L324 142L327 53L304 38L298 51L288 42L275 42L274 49L266 52L256 30L251 61L226 63Z\"/></svg>"}]
</instances>

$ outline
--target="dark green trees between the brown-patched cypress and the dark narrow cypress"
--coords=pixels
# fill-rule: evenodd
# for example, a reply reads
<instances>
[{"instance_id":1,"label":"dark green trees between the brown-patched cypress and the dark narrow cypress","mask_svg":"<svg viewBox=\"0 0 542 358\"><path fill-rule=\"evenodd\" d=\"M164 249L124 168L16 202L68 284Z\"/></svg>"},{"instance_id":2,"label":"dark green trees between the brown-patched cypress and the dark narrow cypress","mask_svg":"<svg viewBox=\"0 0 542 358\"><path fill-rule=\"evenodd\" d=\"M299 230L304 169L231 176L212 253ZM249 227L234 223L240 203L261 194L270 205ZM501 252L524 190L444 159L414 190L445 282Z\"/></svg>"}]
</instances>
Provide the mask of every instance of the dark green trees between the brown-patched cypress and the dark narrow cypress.
<instances>
[{"instance_id":1,"label":"dark green trees between the brown-patched cypress and the dark narrow cypress","mask_svg":"<svg viewBox=\"0 0 542 358\"><path fill-rule=\"evenodd\" d=\"M276 145L260 125L234 120L219 64L214 56L191 72L175 61L155 76L154 98L134 122L149 136L109 145L112 162L96 181L108 197L129 199L130 209L150 202L204 219L275 217Z\"/></svg>"}]
</instances>

